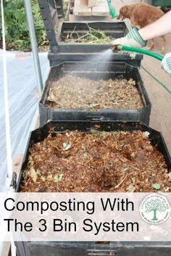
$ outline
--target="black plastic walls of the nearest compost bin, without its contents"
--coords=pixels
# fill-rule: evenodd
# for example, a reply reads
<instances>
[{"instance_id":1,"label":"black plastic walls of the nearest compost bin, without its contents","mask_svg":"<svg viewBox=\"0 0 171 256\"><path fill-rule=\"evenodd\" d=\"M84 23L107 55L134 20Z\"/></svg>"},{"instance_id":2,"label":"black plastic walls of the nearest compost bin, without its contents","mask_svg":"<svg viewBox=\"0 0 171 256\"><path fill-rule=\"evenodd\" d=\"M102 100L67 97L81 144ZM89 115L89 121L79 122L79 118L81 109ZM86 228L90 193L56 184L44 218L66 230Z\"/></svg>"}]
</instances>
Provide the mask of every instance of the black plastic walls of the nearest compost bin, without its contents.
<instances>
[{"instance_id":1,"label":"black plastic walls of the nearest compost bin, without its contents","mask_svg":"<svg viewBox=\"0 0 171 256\"><path fill-rule=\"evenodd\" d=\"M98 128L97 128L98 127ZM54 131L51 131L54 128ZM167 146L164 143L162 134L154 129L149 128L143 123L135 122L91 122L91 121L51 121L41 128L36 129L30 133L28 145L25 150L25 156L22 162L19 180L17 183L17 191L20 191L20 183L22 182L22 173L28 163L28 154L30 144L43 141L48 135L49 131L52 133L59 133L66 130L74 131L90 131L91 128L96 128L99 131L148 131L149 139L152 144L158 146L158 149L164 155L167 162L167 167L171 168L170 154ZM152 241L117 241L101 244L93 241L86 242L54 242L54 241L27 241L15 242L18 256L170 256L171 242L152 242Z\"/></svg>"}]
</instances>

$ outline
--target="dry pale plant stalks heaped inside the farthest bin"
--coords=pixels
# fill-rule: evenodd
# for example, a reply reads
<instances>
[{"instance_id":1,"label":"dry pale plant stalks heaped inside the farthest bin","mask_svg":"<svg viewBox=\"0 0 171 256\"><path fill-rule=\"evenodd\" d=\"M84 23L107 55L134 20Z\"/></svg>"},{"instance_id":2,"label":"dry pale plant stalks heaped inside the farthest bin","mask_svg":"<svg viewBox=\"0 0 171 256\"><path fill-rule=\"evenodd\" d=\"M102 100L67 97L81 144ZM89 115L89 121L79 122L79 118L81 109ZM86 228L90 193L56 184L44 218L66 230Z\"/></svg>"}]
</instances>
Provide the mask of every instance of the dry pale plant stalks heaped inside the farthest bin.
<instances>
[{"instance_id":1,"label":"dry pale plant stalks heaped inside the farthest bin","mask_svg":"<svg viewBox=\"0 0 171 256\"><path fill-rule=\"evenodd\" d=\"M114 38L107 36L103 31L88 26L86 33L78 33L76 27L69 31L66 36L61 37L66 43L85 43L85 44L110 44Z\"/></svg>"}]
</instances>

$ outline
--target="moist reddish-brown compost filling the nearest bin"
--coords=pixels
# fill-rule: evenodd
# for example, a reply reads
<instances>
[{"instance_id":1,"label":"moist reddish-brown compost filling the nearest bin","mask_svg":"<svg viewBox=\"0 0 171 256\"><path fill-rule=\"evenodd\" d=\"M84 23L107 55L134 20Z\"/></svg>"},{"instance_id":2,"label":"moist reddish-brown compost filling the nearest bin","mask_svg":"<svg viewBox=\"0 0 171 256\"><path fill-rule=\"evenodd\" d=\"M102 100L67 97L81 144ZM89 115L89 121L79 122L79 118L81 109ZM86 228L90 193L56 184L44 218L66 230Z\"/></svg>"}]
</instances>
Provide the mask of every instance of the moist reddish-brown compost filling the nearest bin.
<instances>
[{"instance_id":1,"label":"moist reddish-brown compost filling the nearest bin","mask_svg":"<svg viewBox=\"0 0 171 256\"><path fill-rule=\"evenodd\" d=\"M30 146L22 191L171 191L148 132L65 131Z\"/></svg>"}]
</instances>

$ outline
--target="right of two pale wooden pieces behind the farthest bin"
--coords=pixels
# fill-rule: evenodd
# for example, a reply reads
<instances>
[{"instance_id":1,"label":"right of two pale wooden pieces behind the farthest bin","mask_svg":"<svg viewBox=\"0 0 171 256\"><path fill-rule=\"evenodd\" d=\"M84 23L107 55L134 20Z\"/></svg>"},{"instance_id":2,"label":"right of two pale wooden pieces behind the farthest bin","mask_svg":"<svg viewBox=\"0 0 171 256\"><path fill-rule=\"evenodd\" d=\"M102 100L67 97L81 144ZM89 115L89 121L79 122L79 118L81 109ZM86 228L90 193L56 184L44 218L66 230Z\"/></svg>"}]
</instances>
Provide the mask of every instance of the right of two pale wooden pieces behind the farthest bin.
<instances>
[{"instance_id":1,"label":"right of two pale wooden pieces behind the farthest bin","mask_svg":"<svg viewBox=\"0 0 171 256\"><path fill-rule=\"evenodd\" d=\"M98 0L96 7L92 7L93 16L109 16L107 0Z\"/></svg>"}]
</instances>

